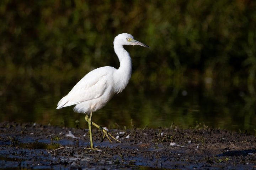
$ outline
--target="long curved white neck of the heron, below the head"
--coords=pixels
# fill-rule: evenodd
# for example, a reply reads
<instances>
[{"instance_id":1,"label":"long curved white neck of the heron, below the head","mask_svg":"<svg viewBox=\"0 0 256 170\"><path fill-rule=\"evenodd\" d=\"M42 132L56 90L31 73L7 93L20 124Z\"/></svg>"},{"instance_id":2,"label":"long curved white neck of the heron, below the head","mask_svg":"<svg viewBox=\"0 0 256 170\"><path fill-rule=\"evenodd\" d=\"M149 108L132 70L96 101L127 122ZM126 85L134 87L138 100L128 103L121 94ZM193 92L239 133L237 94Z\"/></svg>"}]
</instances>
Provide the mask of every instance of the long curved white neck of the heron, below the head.
<instances>
[{"instance_id":1,"label":"long curved white neck of the heron, below the head","mask_svg":"<svg viewBox=\"0 0 256 170\"><path fill-rule=\"evenodd\" d=\"M114 45L114 51L120 62L120 67L114 73L114 82L117 87L116 93L122 92L122 90L128 84L132 74L132 59L129 53L124 50L122 45Z\"/></svg>"}]
</instances>

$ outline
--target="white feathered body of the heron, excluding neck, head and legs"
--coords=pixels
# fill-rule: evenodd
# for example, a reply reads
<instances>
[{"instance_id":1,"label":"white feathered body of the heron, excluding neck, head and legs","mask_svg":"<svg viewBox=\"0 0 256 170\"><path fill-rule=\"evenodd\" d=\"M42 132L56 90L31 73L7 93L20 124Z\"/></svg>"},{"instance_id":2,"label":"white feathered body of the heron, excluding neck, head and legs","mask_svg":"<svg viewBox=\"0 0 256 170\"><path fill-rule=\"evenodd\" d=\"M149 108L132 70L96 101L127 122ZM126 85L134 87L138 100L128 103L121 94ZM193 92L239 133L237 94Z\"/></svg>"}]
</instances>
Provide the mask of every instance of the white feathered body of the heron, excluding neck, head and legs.
<instances>
[{"instance_id":1,"label":"white feathered body of the heron, excluding neck, head and legs","mask_svg":"<svg viewBox=\"0 0 256 170\"><path fill-rule=\"evenodd\" d=\"M94 112L101 109L113 97L113 67L100 67L86 74L69 92L63 97L58 107L67 107L76 104L74 111L87 113L94 106Z\"/></svg>"}]
</instances>

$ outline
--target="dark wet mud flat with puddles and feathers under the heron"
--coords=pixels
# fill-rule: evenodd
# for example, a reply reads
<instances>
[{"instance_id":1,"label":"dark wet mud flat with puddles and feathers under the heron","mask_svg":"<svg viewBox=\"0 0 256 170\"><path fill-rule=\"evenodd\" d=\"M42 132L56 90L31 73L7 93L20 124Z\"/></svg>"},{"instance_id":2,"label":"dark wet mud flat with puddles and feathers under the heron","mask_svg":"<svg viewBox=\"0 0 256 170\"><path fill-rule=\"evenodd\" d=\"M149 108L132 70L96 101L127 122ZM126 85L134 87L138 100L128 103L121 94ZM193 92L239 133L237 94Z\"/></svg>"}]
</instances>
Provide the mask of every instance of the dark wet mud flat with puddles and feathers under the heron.
<instances>
[{"instance_id":1,"label":"dark wet mud flat with puddles and feathers under the heron","mask_svg":"<svg viewBox=\"0 0 256 170\"><path fill-rule=\"evenodd\" d=\"M256 169L255 134L207 128L88 129L0 123L0 169Z\"/></svg>"}]
</instances>

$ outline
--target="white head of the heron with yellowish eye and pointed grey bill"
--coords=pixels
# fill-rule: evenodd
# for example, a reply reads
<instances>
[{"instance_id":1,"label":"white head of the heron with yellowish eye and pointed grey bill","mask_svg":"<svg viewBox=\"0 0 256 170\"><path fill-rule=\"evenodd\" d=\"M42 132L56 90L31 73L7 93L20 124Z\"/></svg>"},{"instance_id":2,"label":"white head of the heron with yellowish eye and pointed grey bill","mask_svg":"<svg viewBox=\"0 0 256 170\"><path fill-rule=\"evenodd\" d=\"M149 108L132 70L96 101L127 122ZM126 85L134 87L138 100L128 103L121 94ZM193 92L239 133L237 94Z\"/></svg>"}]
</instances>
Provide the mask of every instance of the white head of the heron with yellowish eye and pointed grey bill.
<instances>
[{"instance_id":1,"label":"white head of the heron with yellowish eye and pointed grey bill","mask_svg":"<svg viewBox=\"0 0 256 170\"><path fill-rule=\"evenodd\" d=\"M123 33L116 36L113 42L114 45L140 45L143 47L150 48L149 46L134 40L131 34Z\"/></svg>"}]
</instances>

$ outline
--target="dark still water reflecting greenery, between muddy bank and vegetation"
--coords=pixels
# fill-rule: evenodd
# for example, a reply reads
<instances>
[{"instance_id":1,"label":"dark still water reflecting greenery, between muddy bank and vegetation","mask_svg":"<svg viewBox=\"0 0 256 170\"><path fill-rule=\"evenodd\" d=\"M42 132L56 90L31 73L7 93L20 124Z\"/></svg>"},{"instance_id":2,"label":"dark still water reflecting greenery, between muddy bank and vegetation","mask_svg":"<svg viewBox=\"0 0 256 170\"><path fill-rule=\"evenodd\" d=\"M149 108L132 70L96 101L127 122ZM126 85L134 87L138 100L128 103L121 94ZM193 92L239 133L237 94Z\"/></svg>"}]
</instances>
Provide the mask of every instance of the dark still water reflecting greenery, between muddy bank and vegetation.
<instances>
[{"instance_id":1,"label":"dark still water reflecting greenery, between muddy bank and vegetation","mask_svg":"<svg viewBox=\"0 0 256 170\"><path fill-rule=\"evenodd\" d=\"M58 126L87 128L84 114L72 107L56 109L62 96L24 95L5 102L1 96L1 121L36 122ZM207 90L203 86L164 92L138 92L129 86L103 109L94 112L92 121L108 128L209 126L255 134L255 97L234 89Z\"/></svg>"}]
</instances>

